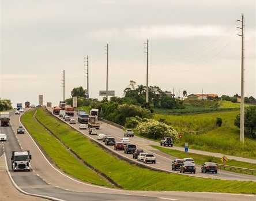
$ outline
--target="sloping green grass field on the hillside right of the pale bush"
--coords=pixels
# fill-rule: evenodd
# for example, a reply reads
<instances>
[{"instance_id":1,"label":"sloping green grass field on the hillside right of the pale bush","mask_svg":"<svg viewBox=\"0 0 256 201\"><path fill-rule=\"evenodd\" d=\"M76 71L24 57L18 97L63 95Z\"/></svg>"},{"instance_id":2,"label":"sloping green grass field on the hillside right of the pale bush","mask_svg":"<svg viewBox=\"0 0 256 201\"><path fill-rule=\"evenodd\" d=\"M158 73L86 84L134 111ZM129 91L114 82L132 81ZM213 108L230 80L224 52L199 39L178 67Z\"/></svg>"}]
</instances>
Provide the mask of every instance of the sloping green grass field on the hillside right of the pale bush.
<instances>
[{"instance_id":1,"label":"sloping green grass field on the hillside right of the pale bush","mask_svg":"<svg viewBox=\"0 0 256 201\"><path fill-rule=\"evenodd\" d=\"M156 119L165 119L171 124L182 139L176 146L189 142L191 149L229 154L232 156L256 158L256 140L244 137L244 145L239 142L239 128L234 126L234 119L239 111L213 112L198 115L157 114ZM216 127L216 117L223 119L221 127Z\"/></svg>"}]
</instances>

